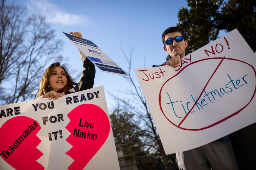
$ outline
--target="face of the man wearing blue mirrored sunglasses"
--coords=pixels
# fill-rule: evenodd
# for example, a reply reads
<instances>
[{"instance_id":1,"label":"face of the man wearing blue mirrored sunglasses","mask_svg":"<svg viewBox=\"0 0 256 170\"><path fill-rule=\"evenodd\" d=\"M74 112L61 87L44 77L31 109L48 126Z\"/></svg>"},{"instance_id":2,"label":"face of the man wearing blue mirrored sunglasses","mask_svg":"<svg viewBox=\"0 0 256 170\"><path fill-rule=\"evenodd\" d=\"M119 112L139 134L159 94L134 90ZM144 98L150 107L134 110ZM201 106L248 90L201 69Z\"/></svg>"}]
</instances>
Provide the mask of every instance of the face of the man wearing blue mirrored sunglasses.
<instances>
[{"instance_id":1,"label":"face of the man wearing blue mirrored sunglasses","mask_svg":"<svg viewBox=\"0 0 256 170\"><path fill-rule=\"evenodd\" d=\"M172 32L165 35L165 41L169 38L174 38L176 36L182 36L179 32ZM177 55L180 56L180 58L185 56L185 48L188 46L188 41L182 40L180 42L176 42L173 40L172 44L165 45L164 50L169 53L171 57L175 57Z\"/></svg>"}]
</instances>

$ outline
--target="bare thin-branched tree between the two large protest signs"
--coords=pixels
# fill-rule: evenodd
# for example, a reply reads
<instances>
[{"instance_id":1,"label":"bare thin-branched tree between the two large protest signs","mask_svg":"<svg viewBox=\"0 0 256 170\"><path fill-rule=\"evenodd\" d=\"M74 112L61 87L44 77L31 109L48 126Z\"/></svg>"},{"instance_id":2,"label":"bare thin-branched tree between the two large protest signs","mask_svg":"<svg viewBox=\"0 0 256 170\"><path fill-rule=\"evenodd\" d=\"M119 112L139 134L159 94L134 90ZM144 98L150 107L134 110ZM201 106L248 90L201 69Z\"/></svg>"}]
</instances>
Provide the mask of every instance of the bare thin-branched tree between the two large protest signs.
<instances>
[{"instance_id":1,"label":"bare thin-branched tree between the two large protest signs","mask_svg":"<svg viewBox=\"0 0 256 170\"><path fill-rule=\"evenodd\" d=\"M121 42L120 42L121 44ZM125 90L116 90L118 94L122 94L122 97L119 97L111 92L110 95L113 97L114 100L118 101L119 108L120 103L122 103L123 110L126 112L133 113L134 116L130 117L129 124L132 124L134 131L138 133L141 137L141 142L143 148L148 152L155 152L158 156L162 156L163 161L167 164L166 155L163 149L163 145L159 138L158 132L156 130L152 115L148 108L146 99L143 95L142 89L140 85L137 83L135 84L133 78L131 77L131 64L132 64L132 55L133 55L133 47L130 47L130 55L126 55L122 44L121 44L122 52L125 56L125 59L128 63L128 76L123 76L124 79L131 85L130 89ZM144 56L144 67L145 67L145 56ZM123 97L125 96L125 97ZM136 121L132 121L136 120ZM115 131L115 128L113 128Z\"/></svg>"}]
</instances>

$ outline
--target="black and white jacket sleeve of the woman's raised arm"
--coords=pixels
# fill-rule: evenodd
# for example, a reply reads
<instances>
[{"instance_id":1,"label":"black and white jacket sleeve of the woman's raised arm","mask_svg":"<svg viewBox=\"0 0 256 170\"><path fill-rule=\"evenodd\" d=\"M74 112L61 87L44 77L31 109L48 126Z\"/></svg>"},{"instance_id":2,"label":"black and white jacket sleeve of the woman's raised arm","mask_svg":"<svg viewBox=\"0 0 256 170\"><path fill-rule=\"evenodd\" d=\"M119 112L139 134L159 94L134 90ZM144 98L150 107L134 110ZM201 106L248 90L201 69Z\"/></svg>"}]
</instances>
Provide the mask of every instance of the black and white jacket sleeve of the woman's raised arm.
<instances>
[{"instance_id":1,"label":"black and white jacket sleeve of the woman's raised arm","mask_svg":"<svg viewBox=\"0 0 256 170\"><path fill-rule=\"evenodd\" d=\"M82 53L82 51L80 51L79 49L78 51L80 53L80 57L83 63L83 72L81 74L80 81L78 82L78 88L79 91L81 91L93 87L95 77L95 66L88 59L88 57Z\"/></svg>"}]
</instances>

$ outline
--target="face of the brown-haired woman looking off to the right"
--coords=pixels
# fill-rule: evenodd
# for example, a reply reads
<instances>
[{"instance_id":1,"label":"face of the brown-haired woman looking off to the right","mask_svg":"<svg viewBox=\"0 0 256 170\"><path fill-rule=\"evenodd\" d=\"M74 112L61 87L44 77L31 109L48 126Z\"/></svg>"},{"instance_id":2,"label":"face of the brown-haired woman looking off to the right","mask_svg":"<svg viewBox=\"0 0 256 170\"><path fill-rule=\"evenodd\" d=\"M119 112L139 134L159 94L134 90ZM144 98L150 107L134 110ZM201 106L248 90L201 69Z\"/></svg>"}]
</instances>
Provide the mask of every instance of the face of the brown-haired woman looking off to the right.
<instances>
[{"instance_id":1,"label":"face of the brown-haired woman looking off to the right","mask_svg":"<svg viewBox=\"0 0 256 170\"><path fill-rule=\"evenodd\" d=\"M67 85L66 73L61 67L55 67L52 69L49 85L51 90L54 91L58 91Z\"/></svg>"}]
</instances>

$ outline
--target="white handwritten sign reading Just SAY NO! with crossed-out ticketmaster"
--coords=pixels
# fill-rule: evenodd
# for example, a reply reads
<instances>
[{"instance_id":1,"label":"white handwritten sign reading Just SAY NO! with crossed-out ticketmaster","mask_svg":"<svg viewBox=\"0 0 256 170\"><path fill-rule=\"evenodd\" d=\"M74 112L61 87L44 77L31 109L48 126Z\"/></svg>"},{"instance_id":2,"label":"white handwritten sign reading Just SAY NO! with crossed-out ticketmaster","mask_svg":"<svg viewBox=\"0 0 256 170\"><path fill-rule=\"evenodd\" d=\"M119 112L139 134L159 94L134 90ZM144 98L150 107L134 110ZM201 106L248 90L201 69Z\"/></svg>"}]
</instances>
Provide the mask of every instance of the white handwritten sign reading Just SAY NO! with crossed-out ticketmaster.
<instances>
[{"instance_id":1,"label":"white handwritten sign reading Just SAY NO! with crossed-out ticketmaster","mask_svg":"<svg viewBox=\"0 0 256 170\"><path fill-rule=\"evenodd\" d=\"M166 154L255 123L255 67L255 54L236 29L185 56L176 68L135 69Z\"/></svg>"}]
</instances>

